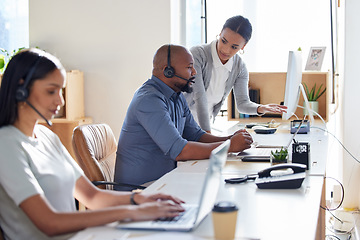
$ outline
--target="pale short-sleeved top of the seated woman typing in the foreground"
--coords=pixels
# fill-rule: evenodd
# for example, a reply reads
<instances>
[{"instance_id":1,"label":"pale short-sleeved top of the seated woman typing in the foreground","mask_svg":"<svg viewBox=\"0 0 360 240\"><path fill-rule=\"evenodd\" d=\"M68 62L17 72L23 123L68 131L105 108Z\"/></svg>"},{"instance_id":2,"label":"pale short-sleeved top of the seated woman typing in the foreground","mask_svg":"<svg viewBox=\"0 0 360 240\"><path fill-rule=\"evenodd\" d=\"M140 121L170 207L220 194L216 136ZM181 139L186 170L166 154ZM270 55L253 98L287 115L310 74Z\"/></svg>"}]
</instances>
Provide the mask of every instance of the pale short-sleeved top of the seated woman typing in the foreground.
<instances>
[{"instance_id":1,"label":"pale short-sleeved top of the seated woman typing in the foreground","mask_svg":"<svg viewBox=\"0 0 360 240\"><path fill-rule=\"evenodd\" d=\"M48 128L36 125L36 138L12 125L0 128L0 222L8 239L68 239L47 237L19 205L31 196L43 195L58 212L74 212L74 188L83 171L60 139Z\"/></svg>"}]
</instances>

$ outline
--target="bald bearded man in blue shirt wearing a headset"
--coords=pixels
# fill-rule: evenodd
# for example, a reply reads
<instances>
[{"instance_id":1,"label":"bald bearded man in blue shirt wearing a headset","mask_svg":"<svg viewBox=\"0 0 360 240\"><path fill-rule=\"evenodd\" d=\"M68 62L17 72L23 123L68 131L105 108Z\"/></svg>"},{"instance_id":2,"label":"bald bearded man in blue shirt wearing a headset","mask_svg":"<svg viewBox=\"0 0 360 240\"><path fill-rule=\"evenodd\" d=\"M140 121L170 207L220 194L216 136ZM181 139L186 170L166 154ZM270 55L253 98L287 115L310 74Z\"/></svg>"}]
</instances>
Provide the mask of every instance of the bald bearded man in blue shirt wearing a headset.
<instances>
[{"instance_id":1,"label":"bald bearded man in blue shirt wearing a headset","mask_svg":"<svg viewBox=\"0 0 360 240\"><path fill-rule=\"evenodd\" d=\"M250 147L252 137L245 130L217 137L194 121L181 93L191 91L196 74L193 62L191 53L182 46L164 45L156 52L152 77L135 92L125 117L115 181L143 184L156 180L174 169L179 160L209 158L227 139L231 139L229 151Z\"/></svg>"}]
</instances>

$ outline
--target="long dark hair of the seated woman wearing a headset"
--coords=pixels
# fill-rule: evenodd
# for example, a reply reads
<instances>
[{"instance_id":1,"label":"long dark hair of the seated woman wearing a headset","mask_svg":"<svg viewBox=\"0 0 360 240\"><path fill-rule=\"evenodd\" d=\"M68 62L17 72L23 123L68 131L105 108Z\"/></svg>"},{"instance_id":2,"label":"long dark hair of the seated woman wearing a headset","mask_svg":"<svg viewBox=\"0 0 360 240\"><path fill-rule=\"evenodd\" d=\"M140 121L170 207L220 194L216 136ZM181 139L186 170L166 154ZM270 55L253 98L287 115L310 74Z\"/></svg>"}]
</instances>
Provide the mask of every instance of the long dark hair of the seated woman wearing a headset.
<instances>
[{"instance_id":1,"label":"long dark hair of the seated woman wearing a headset","mask_svg":"<svg viewBox=\"0 0 360 240\"><path fill-rule=\"evenodd\" d=\"M29 92L34 80L43 79L56 69L64 70L57 58L39 49L24 49L13 56L5 69L0 86L0 127L14 124L18 118L16 90L23 84L21 80L26 78L36 61L39 62L27 86Z\"/></svg>"}]
</instances>

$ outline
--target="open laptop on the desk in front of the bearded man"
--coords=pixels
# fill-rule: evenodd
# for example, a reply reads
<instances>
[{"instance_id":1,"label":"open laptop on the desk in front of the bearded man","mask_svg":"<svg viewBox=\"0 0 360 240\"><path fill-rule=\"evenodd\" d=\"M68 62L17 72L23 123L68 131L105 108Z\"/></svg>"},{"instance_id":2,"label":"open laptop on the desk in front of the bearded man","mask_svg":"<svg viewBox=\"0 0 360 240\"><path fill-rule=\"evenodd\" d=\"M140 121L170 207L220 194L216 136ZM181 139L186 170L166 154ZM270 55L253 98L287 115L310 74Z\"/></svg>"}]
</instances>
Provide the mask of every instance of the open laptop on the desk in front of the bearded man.
<instances>
[{"instance_id":1,"label":"open laptop on the desk in front of the bearded man","mask_svg":"<svg viewBox=\"0 0 360 240\"><path fill-rule=\"evenodd\" d=\"M288 144L286 146L256 146L250 149L246 149L238 154L241 157L243 162L270 162L271 151L275 152L281 148L288 149L291 145L291 142L294 141L296 134L298 134L301 125L304 123L306 115L303 120L299 123L296 131L291 136Z\"/></svg>"}]
</instances>

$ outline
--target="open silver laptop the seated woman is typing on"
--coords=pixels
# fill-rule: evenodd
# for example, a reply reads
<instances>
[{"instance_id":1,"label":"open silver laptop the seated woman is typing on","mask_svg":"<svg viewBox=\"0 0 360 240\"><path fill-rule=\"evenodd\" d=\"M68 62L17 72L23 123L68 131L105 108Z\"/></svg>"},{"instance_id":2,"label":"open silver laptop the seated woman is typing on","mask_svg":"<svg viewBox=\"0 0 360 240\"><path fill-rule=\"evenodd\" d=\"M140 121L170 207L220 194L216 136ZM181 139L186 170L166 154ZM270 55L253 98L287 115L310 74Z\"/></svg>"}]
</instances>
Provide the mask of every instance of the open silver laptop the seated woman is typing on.
<instances>
[{"instance_id":1,"label":"open silver laptop the seated woman is typing on","mask_svg":"<svg viewBox=\"0 0 360 240\"><path fill-rule=\"evenodd\" d=\"M183 204L185 212L172 219L119 223L117 228L128 230L161 230L189 232L195 229L213 208L221 183L221 171L226 163L230 140L212 150L205 174L199 204Z\"/></svg>"}]
</instances>

